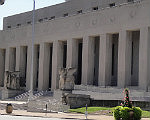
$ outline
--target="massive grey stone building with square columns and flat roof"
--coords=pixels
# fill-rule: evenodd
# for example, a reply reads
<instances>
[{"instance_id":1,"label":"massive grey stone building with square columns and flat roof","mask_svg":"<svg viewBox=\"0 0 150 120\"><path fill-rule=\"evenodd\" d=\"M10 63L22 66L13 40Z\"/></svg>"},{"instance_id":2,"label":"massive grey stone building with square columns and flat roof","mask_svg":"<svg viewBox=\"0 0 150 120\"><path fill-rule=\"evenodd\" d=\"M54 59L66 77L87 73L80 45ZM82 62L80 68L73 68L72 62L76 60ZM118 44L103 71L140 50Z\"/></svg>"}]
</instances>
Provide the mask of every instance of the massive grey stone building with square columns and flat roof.
<instances>
[{"instance_id":1,"label":"massive grey stone building with square columns and flat roof","mask_svg":"<svg viewBox=\"0 0 150 120\"><path fill-rule=\"evenodd\" d=\"M66 0L36 10L34 90L58 89L58 70L74 67L74 93L120 99L129 87L150 98L149 11L150 0ZM21 87L30 89L31 41L32 11L4 18L1 92L5 71L20 71Z\"/></svg>"}]
</instances>

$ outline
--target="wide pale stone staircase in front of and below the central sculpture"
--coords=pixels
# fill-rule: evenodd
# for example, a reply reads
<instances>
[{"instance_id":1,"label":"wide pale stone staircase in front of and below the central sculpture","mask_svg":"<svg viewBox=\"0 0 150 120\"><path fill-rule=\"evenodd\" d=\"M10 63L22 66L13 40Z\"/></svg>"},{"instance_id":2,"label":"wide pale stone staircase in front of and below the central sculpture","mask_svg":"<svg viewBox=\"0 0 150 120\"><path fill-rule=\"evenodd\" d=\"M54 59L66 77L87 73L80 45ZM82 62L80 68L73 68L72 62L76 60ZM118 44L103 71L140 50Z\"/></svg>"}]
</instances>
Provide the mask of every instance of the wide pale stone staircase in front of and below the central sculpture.
<instances>
[{"instance_id":1,"label":"wide pale stone staircase in front of and below the central sculpture","mask_svg":"<svg viewBox=\"0 0 150 120\"><path fill-rule=\"evenodd\" d=\"M62 92L54 91L28 102L29 112L58 112L68 111L70 106L62 104Z\"/></svg>"}]
</instances>

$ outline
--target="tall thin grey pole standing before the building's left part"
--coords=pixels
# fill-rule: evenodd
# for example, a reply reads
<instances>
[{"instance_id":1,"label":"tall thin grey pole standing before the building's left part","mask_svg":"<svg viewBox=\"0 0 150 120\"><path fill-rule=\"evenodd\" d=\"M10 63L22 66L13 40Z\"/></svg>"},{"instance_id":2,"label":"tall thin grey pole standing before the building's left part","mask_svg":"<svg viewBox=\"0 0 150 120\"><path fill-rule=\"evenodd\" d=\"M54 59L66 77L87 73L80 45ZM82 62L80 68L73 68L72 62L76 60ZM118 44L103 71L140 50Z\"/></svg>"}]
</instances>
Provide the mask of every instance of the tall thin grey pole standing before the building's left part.
<instances>
[{"instance_id":1,"label":"tall thin grey pole standing before the building's left part","mask_svg":"<svg viewBox=\"0 0 150 120\"><path fill-rule=\"evenodd\" d=\"M35 36L35 0L33 0L33 11L32 11L32 53L31 53L31 75L30 75L30 94L29 100L33 96L33 58L34 58L34 37Z\"/></svg>"}]
</instances>

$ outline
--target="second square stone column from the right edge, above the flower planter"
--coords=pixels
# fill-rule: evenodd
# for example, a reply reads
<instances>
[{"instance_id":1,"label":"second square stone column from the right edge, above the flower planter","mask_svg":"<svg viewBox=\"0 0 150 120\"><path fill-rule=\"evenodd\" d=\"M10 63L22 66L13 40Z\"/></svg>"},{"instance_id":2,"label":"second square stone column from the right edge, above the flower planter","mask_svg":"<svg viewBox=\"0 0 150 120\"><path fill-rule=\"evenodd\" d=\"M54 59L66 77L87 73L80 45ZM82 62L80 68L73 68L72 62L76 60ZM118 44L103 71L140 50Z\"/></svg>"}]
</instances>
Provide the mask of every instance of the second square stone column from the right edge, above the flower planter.
<instances>
[{"instance_id":1,"label":"second square stone column from the right edge, above the flower planter","mask_svg":"<svg viewBox=\"0 0 150 120\"><path fill-rule=\"evenodd\" d=\"M132 34L129 31L119 32L118 46L118 87L131 85L131 50Z\"/></svg>"}]
</instances>

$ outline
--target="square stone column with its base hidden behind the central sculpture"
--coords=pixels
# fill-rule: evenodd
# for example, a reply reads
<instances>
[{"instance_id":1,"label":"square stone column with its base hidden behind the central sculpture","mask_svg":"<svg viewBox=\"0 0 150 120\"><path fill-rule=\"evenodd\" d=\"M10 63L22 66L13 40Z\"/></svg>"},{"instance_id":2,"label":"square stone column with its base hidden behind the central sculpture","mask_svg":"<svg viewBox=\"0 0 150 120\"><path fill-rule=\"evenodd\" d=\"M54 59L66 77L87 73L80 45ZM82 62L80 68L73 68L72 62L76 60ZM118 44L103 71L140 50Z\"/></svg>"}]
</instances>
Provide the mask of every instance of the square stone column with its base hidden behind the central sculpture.
<instances>
[{"instance_id":1,"label":"square stone column with its base hidden behind the central sculpture","mask_svg":"<svg viewBox=\"0 0 150 120\"><path fill-rule=\"evenodd\" d=\"M78 68L78 41L76 39L67 40L67 68Z\"/></svg>"}]
</instances>

